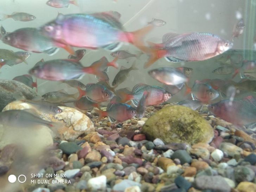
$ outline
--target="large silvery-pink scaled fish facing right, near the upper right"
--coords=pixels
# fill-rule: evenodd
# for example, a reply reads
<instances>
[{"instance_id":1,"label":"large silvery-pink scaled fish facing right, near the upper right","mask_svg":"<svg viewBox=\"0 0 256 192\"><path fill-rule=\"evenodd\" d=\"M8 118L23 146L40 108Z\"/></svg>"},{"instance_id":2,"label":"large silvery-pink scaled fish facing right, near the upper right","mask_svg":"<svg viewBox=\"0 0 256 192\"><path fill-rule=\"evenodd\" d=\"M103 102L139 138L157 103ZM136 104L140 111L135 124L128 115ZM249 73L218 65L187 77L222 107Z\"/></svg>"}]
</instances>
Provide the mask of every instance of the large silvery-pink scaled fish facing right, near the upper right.
<instances>
[{"instance_id":1,"label":"large silvery-pink scaled fish facing right, near the upper right","mask_svg":"<svg viewBox=\"0 0 256 192\"><path fill-rule=\"evenodd\" d=\"M233 44L210 33L181 34L160 44L149 42L154 47L145 68L159 58L165 57L171 62L200 61L215 57L231 49Z\"/></svg>"}]
</instances>

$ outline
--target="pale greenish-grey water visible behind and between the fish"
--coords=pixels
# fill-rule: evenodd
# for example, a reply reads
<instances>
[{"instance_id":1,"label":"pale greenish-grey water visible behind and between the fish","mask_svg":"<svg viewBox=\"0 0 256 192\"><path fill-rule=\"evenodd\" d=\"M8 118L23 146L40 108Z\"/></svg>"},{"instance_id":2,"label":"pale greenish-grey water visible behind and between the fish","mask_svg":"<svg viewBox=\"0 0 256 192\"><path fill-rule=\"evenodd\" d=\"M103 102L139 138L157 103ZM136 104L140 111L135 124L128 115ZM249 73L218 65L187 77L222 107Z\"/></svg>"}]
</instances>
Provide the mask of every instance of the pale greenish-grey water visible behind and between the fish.
<instances>
[{"instance_id":1,"label":"pale greenish-grey water visible behind and between the fish","mask_svg":"<svg viewBox=\"0 0 256 192\"><path fill-rule=\"evenodd\" d=\"M55 19L58 12L63 14L70 14L93 13L113 10L121 13L122 16L120 21L124 24L124 27L127 31L134 31L145 26L147 22L152 20L152 18L162 19L166 21L167 24L165 26L155 27L155 29L145 37L146 40L150 40L155 43L160 43L162 35L167 32L209 32L217 34L223 39L230 40L233 25L237 22L237 18L239 18L237 16L241 14L245 20L246 27L242 36L235 39L233 49L252 49L253 45L248 37L251 37L253 34L253 26L250 25L250 17L249 15L246 15L245 12L253 8L253 3L254 1L250 2L239 0L225 2L221 0L214 2L201 2L199 0L193 2L189 0L177 0L169 2L168 0L162 0L161 3L156 0L141 0L139 2L136 0L117 2L111 0L97 0L94 2L80 0L79 7L70 5L69 8L54 8L45 5L45 0L39 0L36 2L15 0L15 3L11 0L3 0L1 11L2 13L11 14L13 11L26 12L35 15L37 19L29 22L20 22L14 21L12 19L6 19L5 21L1 21L1 25L5 27L7 32L11 32L22 27L39 27L46 22ZM4 7L8 7L8 11L5 10ZM40 10L41 7L44 8L44 11ZM13 51L20 51L20 49L16 49L3 43L1 43L1 48L11 49ZM137 51L137 49L132 45L124 45L122 49L129 50L129 52L131 53ZM1 78L12 79L15 76L26 74L28 70L32 68L34 64L42 58L44 58L44 60L64 59L67 58L68 55L69 53L67 53L63 49L60 49L60 51L53 56L49 56L44 53L33 53L31 57L28 58L28 66L24 65L24 63L13 67L8 67L5 65L1 69ZM87 53L81 60L81 62L84 66L89 66L92 62L98 60L102 56L107 57L108 60L113 59L113 57L110 56L109 51L105 51L102 49L98 51L87 50ZM144 55L139 60L137 60L137 67L140 67L140 70L132 71L129 77L129 81L122 83L118 88L132 88L135 84L141 82L147 84L161 85L147 75L148 69L156 68L158 66L182 66L180 63L169 63L165 59L160 59L150 68L144 70L142 66L143 63L145 63L146 59L147 56ZM132 64L127 64L126 60L119 60L118 63L120 66L124 65L127 67ZM200 80L206 77L216 78L216 76L213 76L210 71L214 70L219 66L218 64L216 64L215 58L203 62L186 63L185 65L194 69L194 74L192 76L191 82L193 82L195 79ZM205 73L206 69L207 71L209 70L209 73ZM110 83L113 81L116 72L116 69L109 69L108 76L110 78ZM219 76L218 78L223 78L223 76ZM81 81L85 84L97 82L93 75L85 75ZM191 84L193 85L193 83ZM60 85L57 82L48 82L38 79L38 91L41 95L49 91L55 91L56 88L64 88L59 86ZM173 98L171 101L177 100Z\"/></svg>"}]
</instances>

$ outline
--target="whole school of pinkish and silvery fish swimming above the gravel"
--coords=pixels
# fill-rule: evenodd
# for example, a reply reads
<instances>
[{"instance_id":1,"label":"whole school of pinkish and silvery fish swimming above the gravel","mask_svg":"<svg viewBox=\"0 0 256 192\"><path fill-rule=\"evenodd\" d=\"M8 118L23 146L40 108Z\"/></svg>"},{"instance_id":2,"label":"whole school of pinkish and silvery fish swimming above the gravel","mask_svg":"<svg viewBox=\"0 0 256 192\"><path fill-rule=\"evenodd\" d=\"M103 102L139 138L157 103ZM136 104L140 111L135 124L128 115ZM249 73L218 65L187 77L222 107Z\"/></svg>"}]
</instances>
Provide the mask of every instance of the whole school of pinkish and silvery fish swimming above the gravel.
<instances>
[{"instance_id":1,"label":"whole school of pinkish and silvery fish swimming above the gravel","mask_svg":"<svg viewBox=\"0 0 256 192\"><path fill-rule=\"evenodd\" d=\"M48 0L46 5L55 8L79 6L76 0ZM95 110L98 120L109 117L111 122L120 123L137 117L141 119L149 105L158 105L170 100L175 94L184 90L185 100L177 104L200 109L208 105L210 113L223 120L236 125L248 125L256 122L256 61L246 60L242 55L237 58L232 55L222 55L232 51L233 44L244 30L244 20L241 18L230 29L231 40L205 32L173 33L168 32L162 37L162 42L147 41L145 36L152 30L167 24L161 19L152 18L146 26L135 31L126 31L120 21L122 15L116 11L98 13L58 13L56 18L36 28L27 25L29 21L38 19L36 16L24 12L1 14L0 21L13 19L23 21L24 28L6 32L4 26L0 28L0 38L10 49L0 49L0 68L4 65L14 66L28 63L31 55L46 53L54 55L59 49L65 49L69 56L60 59L38 60L34 66L13 78L24 83L30 88L38 88L37 79L58 81L67 87L77 90L70 94L61 89L43 94L40 100L25 100L17 98L34 109L43 113L58 114L62 109L58 106L73 103L73 107L80 110ZM130 44L138 51L122 50L123 44ZM11 47L20 49L18 52ZM77 49L76 51L74 49ZM89 50L105 49L113 60L99 55L93 63L85 63ZM143 55L147 60L142 62ZM223 66L208 71L216 77L230 76L229 79L196 79L192 82L193 68L190 63L205 61L220 56L216 63ZM144 57L144 56L143 56ZM165 58L168 62L181 63L185 66L172 67L172 63L158 67L157 61ZM119 66L120 59L127 60L128 64ZM133 62L130 62L132 60ZM132 63L132 65L130 65ZM119 88L120 84L129 81L130 74L139 70L139 63L144 63L144 68L153 65L154 69L147 70L150 77L162 86L138 83L134 87ZM241 64L240 66L237 64ZM86 66L85 66L86 65ZM198 64L199 65L199 64ZM203 68L203 62L200 63ZM108 70L116 70L116 76L109 82ZM207 71L207 69L205 69ZM233 81L238 78L240 81ZM82 77L94 75L97 83L82 82ZM152 80L153 80L152 79ZM153 80L154 81L154 80ZM192 87L189 84L193 84ZM111 87L112 86L112 87ZM107 106L106 110L101 110ZM29 110L9 110L0 113L0 123L9 126L34 126L44 124L48 127L58 127L56 123L48 122L33 114Z\"/></svg>"}]
</instances>

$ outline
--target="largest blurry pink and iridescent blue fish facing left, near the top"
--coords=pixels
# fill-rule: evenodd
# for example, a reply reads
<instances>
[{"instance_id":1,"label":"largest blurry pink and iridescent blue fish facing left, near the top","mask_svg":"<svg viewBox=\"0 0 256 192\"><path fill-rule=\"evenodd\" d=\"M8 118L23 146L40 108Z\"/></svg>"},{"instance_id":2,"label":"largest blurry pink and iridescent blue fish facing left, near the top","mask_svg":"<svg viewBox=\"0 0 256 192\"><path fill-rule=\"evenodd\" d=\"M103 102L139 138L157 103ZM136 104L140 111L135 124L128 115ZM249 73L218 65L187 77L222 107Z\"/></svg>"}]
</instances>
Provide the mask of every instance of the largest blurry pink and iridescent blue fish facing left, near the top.
<instances>
[{"instance_id":1,"label":"largest blurry pink and iridescent blue fish facing left, near the top","mask_svg":"<svg viewBox=\"0 0 256 192\"><path fill-rule=\"evenodd\" d=\"M126 32L119 19L113 17L109 12L94 14L59 14L49 23L41 26L40 32L59 43L59 47L74 54L70 46L98 49L103 47L108 50L116 50L120 42L128 42L144 52L148 48L144 45L142 38L153 25L135 32Z\"/></svg>"}]
</instances>

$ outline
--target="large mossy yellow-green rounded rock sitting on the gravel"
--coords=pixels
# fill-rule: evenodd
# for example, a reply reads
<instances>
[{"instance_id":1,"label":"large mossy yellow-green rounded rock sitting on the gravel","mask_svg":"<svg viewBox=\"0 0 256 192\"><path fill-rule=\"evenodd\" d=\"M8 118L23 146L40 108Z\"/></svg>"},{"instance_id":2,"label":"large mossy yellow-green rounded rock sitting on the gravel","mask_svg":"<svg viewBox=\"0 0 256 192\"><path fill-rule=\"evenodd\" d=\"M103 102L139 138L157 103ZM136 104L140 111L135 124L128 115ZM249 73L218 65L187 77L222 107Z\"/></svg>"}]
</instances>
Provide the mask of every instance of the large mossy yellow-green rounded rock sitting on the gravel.
<instances>
[{"instance_id":1,"label":"large mossy yellow-green rounded rock sitting on the gravel","mask_svg":"<svg viewBox=\"0 0 256 192\"><path fill-rule=\"evenodd\" d=\"M197 111L181 105L164 107L152 115L142 127L148 140L156 138L166 143L211 142L211 125Z\"/></svg>"}]
</instances>

